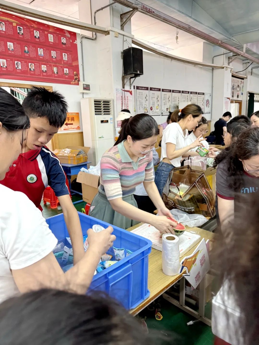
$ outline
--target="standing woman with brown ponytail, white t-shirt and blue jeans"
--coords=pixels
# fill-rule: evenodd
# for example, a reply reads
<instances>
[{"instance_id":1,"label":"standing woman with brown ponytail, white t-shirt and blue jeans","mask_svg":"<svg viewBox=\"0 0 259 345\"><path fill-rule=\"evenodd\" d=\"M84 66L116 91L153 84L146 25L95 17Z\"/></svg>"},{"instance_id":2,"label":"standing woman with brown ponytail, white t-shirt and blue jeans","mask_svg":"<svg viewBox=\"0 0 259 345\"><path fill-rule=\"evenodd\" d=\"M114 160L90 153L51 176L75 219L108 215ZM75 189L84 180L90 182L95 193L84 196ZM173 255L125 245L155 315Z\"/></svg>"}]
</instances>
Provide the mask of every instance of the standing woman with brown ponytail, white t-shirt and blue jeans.
<instances>
[{"instance_id":1,"label":"standing woman with brown ponytail, white t-shirt and blue jeans","mask_svg":"<svg viewBox=\"0 0 259 345\"><path fill-rule=\"evenodd\" d=\"M188 130L196 127L202 118L201 107L196 104L189 104L179 110L180 120L168 125L164 132L161 142L161 161L155 174L155 184L162 196L164 186L170 174L175 167L181 166L182 155L196 146L203 146L202 135L186 146L185 139L188 136Z\"/></svg>"}]
</instances>

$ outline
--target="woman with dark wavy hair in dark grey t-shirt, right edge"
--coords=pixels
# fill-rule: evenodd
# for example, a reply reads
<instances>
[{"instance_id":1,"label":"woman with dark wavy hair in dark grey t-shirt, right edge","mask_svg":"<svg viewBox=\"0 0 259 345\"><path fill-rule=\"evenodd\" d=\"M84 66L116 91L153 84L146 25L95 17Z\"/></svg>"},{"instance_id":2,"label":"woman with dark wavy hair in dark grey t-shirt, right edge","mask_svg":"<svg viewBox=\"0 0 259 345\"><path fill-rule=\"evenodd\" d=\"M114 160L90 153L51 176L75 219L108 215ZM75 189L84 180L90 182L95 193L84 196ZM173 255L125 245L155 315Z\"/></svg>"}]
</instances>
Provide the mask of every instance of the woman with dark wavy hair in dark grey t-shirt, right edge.
<instances>
[{"instance_id":1,"label":"woman with dark wavy hair in dark grey t-shirt, right edge","mask_svg":"<svg viewBox=\"0 0 259 345\"><path fill-rule=\"evenodd\" d=\"M216 191L221 223L233 217L237 200L258 193L259 128L241 132L236 142L215 158Z\"/></svg>"}]
</instances>

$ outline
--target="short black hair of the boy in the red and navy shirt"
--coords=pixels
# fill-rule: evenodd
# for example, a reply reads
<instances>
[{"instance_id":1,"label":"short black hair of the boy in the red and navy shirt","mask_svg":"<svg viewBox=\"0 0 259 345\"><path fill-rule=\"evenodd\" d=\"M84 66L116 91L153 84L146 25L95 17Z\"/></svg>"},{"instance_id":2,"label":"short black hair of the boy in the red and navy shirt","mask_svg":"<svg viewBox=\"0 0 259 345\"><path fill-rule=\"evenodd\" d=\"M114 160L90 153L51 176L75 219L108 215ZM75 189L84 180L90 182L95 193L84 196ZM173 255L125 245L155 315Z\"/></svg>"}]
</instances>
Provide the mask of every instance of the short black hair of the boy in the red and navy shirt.
<instances>
[{"instance_id":1,"label":"short black hair of the boy in the red and navy shirt","mask_svg":"<svg viewBox=\"0 0 259 345\"><path fill-rule=\"evenodd\" d=\"M62 127L67 117L67 102L57 91L34 86L22 102L29 118L46 117L50 126Z\"/></svg>"}]
</instances>

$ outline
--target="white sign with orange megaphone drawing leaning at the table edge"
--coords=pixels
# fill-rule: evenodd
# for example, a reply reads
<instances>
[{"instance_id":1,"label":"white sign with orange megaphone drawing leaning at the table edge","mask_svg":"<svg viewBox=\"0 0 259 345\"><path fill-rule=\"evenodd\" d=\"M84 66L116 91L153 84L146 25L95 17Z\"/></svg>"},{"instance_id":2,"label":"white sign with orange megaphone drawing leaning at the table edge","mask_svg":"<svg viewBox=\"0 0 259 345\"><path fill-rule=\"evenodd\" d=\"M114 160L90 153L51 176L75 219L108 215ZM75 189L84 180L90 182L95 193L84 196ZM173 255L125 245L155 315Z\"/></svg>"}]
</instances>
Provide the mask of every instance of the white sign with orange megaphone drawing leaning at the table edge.
<instances>
[{"instance_id":1,"label":"white sign with orange megaphone drawing leaning at the table edge","mask_svg":"<svg viewBox=\"0 0 259 345\"><path fill-rule=\"evenodd\" d=\"M183 276L196 289L210 269L208 247L204 238L191 255L185 256L181 260L179 274L184 269L186 273Z\"/></svg>"}]
</instances>

